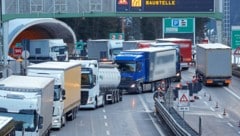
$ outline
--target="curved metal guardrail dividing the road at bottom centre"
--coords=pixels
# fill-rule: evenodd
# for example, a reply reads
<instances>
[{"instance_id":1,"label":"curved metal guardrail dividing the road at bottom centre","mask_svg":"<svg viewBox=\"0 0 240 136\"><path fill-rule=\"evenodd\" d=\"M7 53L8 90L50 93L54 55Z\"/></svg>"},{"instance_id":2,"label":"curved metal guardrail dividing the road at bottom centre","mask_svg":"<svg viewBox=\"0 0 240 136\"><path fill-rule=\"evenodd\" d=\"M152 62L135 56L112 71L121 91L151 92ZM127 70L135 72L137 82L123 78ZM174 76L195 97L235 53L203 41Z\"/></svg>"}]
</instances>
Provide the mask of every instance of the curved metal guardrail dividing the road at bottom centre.
<instances>
[{"instance_id":1,"label":"curved metal guardrail dividing the road at bottom centre","mask_svg":"<svg viewBox=\"0 0 240 136\"><path fill-rule=\"evenodd\" d=\"M162 117L176 136L200 136L173 108L166 108L158 98L154 98L157 117Z\"/></svg>"}]
</instances>

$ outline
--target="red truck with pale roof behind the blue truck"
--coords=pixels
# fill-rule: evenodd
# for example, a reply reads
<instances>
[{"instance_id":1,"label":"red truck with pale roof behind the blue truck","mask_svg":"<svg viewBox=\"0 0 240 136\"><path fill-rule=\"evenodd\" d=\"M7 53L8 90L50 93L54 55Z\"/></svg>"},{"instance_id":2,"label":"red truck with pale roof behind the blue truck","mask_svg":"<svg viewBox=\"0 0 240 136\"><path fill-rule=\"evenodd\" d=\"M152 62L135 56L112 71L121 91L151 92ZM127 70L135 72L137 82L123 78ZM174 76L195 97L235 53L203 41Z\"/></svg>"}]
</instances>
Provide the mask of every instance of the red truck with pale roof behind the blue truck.
<instances>
[{"instance_id":1,"label":"red truck with pale roof behind the blue truck","mask_svg":"<svg viewBox=\"0 0 240 136\"><path fill-rule=\"evenodd\" d=\"M189 63L193 62L192 58L192 40L182 38L160 38L156 39L157 43L172 42L180 46L181 68L188 69Z\"/></svg>"}]
</instances>

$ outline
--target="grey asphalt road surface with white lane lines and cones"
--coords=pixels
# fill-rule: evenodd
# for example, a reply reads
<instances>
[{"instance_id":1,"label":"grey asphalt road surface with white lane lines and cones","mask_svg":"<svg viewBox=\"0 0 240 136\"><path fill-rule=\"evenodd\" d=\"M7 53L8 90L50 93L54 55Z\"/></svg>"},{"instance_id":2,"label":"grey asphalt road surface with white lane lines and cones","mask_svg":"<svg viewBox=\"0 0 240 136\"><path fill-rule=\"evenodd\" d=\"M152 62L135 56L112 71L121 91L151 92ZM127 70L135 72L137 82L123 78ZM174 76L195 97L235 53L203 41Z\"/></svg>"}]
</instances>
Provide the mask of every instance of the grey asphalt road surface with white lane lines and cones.
<instances>
[{"instance_id":1,"label":"grey asphalt road surface with white lane lines and cones","mask_svg":"<svg viewBox=\"0 0 240 136\"><path fill-rule=\"evenodd\" d=\"M182 72L182 82L191 81L194 68ZM203 87L197 94L200 99L190 103L190 111L184 119L199 131L201 117L203 136L240 136L240 84L233 77L229 87ZM175 86L173 83L172 86ZM177 101L174 107L177 109ZM152 93L125 94L123 101L105 105L96 110L80 110L77 119L67 122L61 130L53 130L51 136L168 136L163 121L154 114ZM183 116L182 112L179 112Z\"/></svg>"}]
</instances>

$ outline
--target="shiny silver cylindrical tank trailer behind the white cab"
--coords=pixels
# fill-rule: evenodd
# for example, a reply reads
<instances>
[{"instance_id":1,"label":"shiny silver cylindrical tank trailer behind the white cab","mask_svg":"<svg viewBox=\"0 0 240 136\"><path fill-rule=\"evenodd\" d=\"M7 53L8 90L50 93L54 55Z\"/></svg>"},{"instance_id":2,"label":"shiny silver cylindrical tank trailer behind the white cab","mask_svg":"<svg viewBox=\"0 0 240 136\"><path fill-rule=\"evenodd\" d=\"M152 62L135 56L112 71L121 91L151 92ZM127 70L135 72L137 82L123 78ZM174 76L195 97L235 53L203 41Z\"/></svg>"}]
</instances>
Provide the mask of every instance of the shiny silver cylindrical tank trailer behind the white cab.
<instances>
[{"instance_id":1,"label":"shiny silver cylindrical tank trailer behind the white cab","mask_svg":"<svg viewBox=\"0 0 240 136\"><path fill-rule=\"evenodd\" d=\"M106 103L122 101L122 90L118 88L121 80L117 65L106 62L99 63L99 87L105 96Z\"/></svg>"}]
</instances>

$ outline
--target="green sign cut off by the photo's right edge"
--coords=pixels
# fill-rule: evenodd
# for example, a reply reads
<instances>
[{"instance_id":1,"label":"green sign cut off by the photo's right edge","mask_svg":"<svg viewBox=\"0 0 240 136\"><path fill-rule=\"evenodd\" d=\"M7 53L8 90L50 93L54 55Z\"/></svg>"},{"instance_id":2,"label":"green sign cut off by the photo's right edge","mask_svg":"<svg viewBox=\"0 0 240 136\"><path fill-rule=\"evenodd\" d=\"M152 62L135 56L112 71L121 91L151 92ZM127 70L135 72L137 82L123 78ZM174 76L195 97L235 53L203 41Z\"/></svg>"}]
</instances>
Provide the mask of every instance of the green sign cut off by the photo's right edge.
<instances>
[{"instance_id":1,"label":"green sign cut off by the photo's right edge","mask_svg":"<svg viewBox=\"0 0 240 136\"><path fill-rule=\"evenodd\" d=\"M232 49L236 49L237 47L240 47L240 27L233 29L232 28L232 32L231 32L231 46Z\"/></svg>"}]
</instances>

